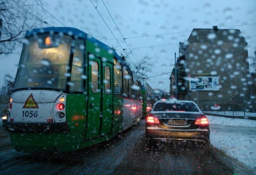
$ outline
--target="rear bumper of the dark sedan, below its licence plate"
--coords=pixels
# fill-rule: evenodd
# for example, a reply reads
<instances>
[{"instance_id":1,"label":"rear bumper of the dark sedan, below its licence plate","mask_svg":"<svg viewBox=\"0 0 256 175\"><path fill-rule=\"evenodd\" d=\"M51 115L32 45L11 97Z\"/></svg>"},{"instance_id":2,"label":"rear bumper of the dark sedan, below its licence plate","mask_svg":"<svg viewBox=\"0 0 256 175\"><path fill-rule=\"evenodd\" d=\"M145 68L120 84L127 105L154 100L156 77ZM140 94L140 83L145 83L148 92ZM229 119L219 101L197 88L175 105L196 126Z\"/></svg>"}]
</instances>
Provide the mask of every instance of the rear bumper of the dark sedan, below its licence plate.
<instances>
[{"instance_id":1,"label":"rear bumper of the dark sedan, below its licence plate","mask_svg":"<svg viewBox=\"0 0 256 175\"><path fill-rule=\"evenodd\" d=\"M161 141L194 141L210 144L210 131L199 129L193 131L178 131L164 129L146 129L146 139Z\"/></svg>"}]
</instances>

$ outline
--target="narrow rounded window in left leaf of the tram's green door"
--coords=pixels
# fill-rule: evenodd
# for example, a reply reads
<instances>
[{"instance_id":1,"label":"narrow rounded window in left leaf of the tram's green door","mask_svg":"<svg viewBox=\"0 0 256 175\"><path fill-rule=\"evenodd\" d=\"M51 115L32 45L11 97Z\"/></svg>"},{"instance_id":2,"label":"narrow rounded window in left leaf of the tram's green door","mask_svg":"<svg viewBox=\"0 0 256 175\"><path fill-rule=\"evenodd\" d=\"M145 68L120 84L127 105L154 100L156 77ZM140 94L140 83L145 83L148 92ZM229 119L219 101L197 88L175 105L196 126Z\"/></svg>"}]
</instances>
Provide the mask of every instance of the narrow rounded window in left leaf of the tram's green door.
<instances>
[{"instance_id":1,"label":"narrow rounded window in left leaf of the tram's green door","mask_svg":"<svg viewBox=\"0 0 256 175\"><path fill-rule=\"evenodd\" d=\"M98 81L98 75L99 75L99 65L97 62L95 61L91 61L91 78L92 78L92 84L91 84L91 88L92 88L92 92L94 93L98 93L99 91L99 81Z\"/></svg>"}]
</instances>

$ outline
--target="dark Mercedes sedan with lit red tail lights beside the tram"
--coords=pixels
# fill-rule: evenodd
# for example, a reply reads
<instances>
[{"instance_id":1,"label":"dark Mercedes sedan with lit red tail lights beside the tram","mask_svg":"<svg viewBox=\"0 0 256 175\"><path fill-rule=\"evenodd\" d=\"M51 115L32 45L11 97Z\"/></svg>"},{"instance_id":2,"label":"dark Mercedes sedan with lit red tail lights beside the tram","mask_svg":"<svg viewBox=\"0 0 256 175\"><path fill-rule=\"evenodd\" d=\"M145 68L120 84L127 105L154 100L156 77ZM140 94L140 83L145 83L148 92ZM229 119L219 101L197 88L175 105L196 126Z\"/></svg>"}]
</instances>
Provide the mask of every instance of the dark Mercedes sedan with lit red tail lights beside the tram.
<instances>
[{"instance_id":1,"label":"dark Mercedes sedan with lit red tail lights beside the tram","mask_svg":"<svg viewBox=\"0 0 256 175\"><path fill-rule=\"evenodd\" d=\"M210 145L209 121L194 101L156 101L146 117L145 137L152 141L179 141Z\"/></svg>"}]
</instances>

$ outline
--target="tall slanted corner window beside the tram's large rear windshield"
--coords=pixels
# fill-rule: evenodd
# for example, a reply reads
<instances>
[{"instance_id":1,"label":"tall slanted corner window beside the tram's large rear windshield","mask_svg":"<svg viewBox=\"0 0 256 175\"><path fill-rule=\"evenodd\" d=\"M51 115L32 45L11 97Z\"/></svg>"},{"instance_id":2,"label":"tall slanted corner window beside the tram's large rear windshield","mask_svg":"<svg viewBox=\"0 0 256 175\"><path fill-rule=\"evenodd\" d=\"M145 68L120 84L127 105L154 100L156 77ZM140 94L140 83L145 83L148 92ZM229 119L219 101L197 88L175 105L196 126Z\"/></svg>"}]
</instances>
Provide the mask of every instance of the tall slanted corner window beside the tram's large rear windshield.
<instances>
[{"instance_id":1,"label":"tall slanted corner window beside the tram's large rear windshield","mask_svg":"<svg viewBox=\"0 0 256 175\"><path fill-rule=\"evenodd\" d=\"M75 52L72 62L72 72L70 80L70 91L82 92L83 91L83 80L82 75L84 72L84 41L76 40Z\"/></svg>"}]
</instances>

